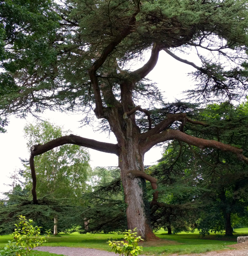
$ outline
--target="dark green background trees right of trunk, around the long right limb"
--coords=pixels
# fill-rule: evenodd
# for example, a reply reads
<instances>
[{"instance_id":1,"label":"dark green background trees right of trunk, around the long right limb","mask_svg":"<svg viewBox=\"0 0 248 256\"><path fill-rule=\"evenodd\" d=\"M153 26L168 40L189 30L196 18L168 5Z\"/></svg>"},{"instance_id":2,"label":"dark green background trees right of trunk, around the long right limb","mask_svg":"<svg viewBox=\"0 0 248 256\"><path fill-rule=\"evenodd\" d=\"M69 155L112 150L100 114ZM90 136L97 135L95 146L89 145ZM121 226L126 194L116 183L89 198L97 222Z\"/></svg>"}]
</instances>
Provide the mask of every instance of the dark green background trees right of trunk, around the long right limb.
<instances>
[{"instance_id":1,"label":"dark green background trees right of trunk, around the long right limb","mask_svg":"<svg viewBox=\"0 0 248 256\"><path fill-rule=\"evenodd\" d=\"M208 105L198 109L198 118L209 126L187 123L184 131L243 148L247 156L247 106L247 102L238 106L227 102ZM168 204L154 213L160 213L160 222L165 226L170 224L177 229L181 219L185 225L181 225L181 230L193 225L202 234L210 230L219 232L225 227L227 232L227 225L235 223L228 218L242 220L248 216L248 168L231 153L211 148L200 150L174 141L150 172L159 178L160 200Z\"/></svg>"}]
</instances>

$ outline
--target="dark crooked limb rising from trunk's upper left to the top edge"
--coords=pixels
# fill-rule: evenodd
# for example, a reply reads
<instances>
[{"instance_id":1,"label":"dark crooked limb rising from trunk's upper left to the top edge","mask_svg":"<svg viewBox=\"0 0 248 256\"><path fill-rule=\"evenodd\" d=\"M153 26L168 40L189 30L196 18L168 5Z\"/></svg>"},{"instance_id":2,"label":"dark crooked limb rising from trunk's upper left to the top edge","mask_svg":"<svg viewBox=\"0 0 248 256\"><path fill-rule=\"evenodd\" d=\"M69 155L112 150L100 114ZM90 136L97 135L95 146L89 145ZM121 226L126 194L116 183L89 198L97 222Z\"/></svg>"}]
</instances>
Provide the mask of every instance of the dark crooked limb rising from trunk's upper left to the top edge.
<instances>
[{"instance_id":1,"label":"dark crooked limb rising from trunk's upper left to the top edge","mask_svg":"<svg viewBox=\"0 0 248 256\"><path fill-rule=\"evenodd\" d=\"M98 78L96 75L96 71L103 65L105 60L107 59L108 55L112 53L114 48L122 42L122 40L128 36L130 33L132 33L132 29L136 22L136 15L140 12L140 10L136 10L134 14L132 15L129 24L126 26L126 28L120 33L118 36L116 36L113 41L111 41L103 50L103 53L98 57L98 59L93 63L91 66L91 69L89 70L89 77L91 79L91 84L93 87L93 91L95 94L95 115L97 118L104 117L104 111L103 111L103 100L101 97L101 92L98 84Z\"/></svg>"}]
</instances>

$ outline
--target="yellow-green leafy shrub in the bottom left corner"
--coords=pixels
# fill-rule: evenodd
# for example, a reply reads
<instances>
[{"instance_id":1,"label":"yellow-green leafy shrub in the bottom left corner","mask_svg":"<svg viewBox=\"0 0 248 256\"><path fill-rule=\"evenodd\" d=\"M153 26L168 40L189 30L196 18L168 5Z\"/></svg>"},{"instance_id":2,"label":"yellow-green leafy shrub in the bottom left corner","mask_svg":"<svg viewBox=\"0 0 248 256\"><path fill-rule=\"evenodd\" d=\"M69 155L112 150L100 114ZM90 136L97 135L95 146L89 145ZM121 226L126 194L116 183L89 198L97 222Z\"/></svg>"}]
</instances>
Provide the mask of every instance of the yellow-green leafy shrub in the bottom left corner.
<instances>
[{"instance_id":1,"label":"yellow-green leafy shrub in the bottom left corner","mask_svg":"<svg viewBox=\"0 0 248 256\"><path fill-rule=\"evenodd\" d=\"M19 215L19 224L15 224L17 227L12 233L12 241L8 241L4 247L4 251L0 251L1 256L29 256L31 250L40 246L44 242L47 242L47 238L50 236L50 230L45 231L45 235L41 236L41 227L33 227L33 220L26 220L25 216Z\"/></svg>"}]
</instances>

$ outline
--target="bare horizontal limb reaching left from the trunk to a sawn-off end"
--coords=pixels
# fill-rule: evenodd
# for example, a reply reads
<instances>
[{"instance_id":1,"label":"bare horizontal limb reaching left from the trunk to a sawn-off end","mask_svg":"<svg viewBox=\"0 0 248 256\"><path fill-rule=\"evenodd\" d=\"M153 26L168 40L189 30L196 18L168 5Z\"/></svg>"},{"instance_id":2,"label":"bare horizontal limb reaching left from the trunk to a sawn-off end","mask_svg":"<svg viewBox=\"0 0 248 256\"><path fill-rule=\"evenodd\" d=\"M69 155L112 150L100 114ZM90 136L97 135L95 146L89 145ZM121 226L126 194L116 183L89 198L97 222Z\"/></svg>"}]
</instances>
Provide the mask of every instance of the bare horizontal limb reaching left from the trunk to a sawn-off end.
<instances>
[{"instance_id":1,"label":"bare horizontal limb reaching left from the trunk to a sawn-off end","mask_svg":"<svg viewBox=\"0 0 248 256\"><path fill-rule=\"evenodd\" d=\"M92 148L105 153L112 153L118 155L117 144L95 141L94 139L87 139L73 134L62 136L60 138L49 141L43 145L33 145L31 147L31 155L38 156L51 150L52 148L56 148L64 144L74 144L86 148Z\"/></svg>"}]
</instances>

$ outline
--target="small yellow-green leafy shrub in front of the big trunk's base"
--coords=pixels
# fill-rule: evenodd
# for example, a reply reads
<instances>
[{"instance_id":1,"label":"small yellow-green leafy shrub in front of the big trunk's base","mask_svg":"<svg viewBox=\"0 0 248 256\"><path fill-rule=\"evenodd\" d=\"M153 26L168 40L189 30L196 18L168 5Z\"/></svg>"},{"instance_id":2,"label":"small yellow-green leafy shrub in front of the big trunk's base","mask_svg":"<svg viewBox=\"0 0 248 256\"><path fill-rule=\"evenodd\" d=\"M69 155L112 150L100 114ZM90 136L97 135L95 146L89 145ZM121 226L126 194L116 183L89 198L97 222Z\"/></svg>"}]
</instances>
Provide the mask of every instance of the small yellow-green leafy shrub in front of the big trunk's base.
<instances>
[{"instance_id":1,"label":"small yellow-green leafy shrub in front of the big trunk's base","mask_svg":"<svg viewBox=\"0 0 248 256\"><path fill-rule=\"evenodd\" d=\"M137 256L141 254L143 246L138 246L138 241L143 239L137 237L137 232L134 232L136 229L137 228L135 228L133 232L132 230L126 230L124 235L126 243L124 241L108 241L107 243L112 247L112 251L122 256Z\"/></svg>"}]
</instances>

